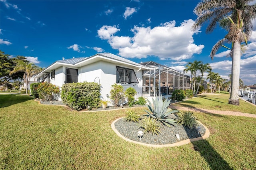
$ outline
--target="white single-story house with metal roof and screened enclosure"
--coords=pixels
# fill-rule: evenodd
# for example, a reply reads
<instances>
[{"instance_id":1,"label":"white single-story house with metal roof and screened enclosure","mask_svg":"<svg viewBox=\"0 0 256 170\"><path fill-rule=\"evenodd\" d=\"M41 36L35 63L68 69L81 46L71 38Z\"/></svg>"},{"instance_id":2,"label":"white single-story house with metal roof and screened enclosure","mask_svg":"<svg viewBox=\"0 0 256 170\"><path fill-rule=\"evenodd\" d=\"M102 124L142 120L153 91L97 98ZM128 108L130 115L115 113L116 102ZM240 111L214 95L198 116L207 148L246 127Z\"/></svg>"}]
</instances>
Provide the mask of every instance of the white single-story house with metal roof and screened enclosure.
<instances>
[{"instance_id":1,"label":"white single-story house with metal roof and screened enclosure","mask_svg":"<svg viewBox=\"0 0 256 170\"><path fill-rule=\"evenodd\" d=\"M58 60L34 78L61 87L65 83L95 82L101 85L101 99L109 100L111 85L133 87L140 96L170 97L174 89L190 89L189 76L153 61L135 63L112 53ZM159 91L160 89L160 91ZM61 100L61 99L59 99Z\"/></svg>"}]
</instances>

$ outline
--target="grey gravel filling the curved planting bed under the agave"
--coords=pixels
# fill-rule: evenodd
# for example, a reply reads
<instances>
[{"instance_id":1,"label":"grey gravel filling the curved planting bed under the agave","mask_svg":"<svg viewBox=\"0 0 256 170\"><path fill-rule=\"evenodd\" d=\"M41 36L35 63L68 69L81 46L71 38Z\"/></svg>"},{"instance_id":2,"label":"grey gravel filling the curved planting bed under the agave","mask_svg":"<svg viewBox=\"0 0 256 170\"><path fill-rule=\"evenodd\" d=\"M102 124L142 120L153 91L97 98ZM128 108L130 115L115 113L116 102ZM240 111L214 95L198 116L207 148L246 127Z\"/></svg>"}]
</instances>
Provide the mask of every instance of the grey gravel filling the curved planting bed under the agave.
<instances>
[{"instance_id":1,"label":"grey gravel filling the curved planting bed under the agave","mask_svg":"<svg viewBox=\"0 0 256 170\"><path fill-rule=\"evenodd\" d=\"M175 119L176 115L170 115L169 118ZM172 144L185 139L201 137L206 132L205 128L201 124L199 124L200 130L190 129L188 127L183 127L180 125L178 125L177 127L171 126L171 128L166 127L161 123L159 123L159 125L161 128L161 134L152 135L151 132L146 132L140 140L137 132L139 130L144 131L144 129L139 128L138 123L124 122L124 119L119 119L114 124L116 130L118 130L118 132L120 132L120 134L122 134L124 137L130 140L147 144ZM178 138L176 138L175 136L175 134L177 133L180 135L180 140L178 140Z\"/></svg>"}]
</instances>

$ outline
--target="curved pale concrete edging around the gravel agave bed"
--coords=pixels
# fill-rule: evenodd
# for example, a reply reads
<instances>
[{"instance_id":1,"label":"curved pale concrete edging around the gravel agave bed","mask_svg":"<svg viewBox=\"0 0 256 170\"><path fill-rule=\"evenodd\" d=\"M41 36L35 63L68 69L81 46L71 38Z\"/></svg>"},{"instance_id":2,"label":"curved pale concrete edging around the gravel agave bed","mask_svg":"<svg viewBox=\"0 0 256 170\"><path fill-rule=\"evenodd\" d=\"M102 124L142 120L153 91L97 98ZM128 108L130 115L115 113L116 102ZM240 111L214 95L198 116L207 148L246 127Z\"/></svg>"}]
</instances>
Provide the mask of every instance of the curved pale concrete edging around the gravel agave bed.
<instances>
[{"instance_id":1,"label":"curved pale concrete edging around the gravel agave bed","mask_svg":"<svg viewBox=\"0 0 256 170\"><path fill-rule=\"evenodd\" d=\"M116 129L115 127L115 123L116 121L118 121L119 119L122 119L123 117L120 117L118 119L116 119L115 121L113 121L111 123L111 128L114 130L114 132L121 138L123 138L124 140L128 141L128 142L132 142L132 143L135 143L135 144L140 144L140 145L143 145L143 146L148 146L148 147L153 147L153 148L163 148L163 147L173 147L173 146L181 146L183 144L188 144L188 143L191 143L191 142L194 142L194 141L197 141L197 140L203 140L203 139L206 139L210 136L210 131L209 129L204 126L202 123L199 123L206 129L205 131L205 134L201 137L198 137L198 138L191 138L191 139L185 139L185 140L182 140L180 142L176 142L176 143L172 143L172 144L147 144L147 143L142 143L142 142L137 142L137 141L134 141L134 140L130 140L126 137L124 137L122 134L120 134L120 132L118 132L118 130Z\"/></svg>"}]
</instances>

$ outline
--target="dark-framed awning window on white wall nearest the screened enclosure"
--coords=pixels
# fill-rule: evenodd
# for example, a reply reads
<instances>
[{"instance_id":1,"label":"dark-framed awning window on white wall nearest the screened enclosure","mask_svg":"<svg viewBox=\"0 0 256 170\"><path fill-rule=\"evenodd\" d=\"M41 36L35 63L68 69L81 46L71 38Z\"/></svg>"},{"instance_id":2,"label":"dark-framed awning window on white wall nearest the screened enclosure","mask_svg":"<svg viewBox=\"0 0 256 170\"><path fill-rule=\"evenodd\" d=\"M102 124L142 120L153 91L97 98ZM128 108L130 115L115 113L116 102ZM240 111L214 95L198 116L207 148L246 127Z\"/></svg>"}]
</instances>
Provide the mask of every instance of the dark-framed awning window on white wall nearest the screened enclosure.
<instances>
[{"instance_id":1,"label":"dark-framed awning window on white wall nearest the screened enclosure","mask_svg":"<svg viewBox=\"0 0 256 170\"><path fill-rule=\"evenodd\" d=\"M138 83L133 69L116 66L116 83Z\"/></svg>"}]
</instances>

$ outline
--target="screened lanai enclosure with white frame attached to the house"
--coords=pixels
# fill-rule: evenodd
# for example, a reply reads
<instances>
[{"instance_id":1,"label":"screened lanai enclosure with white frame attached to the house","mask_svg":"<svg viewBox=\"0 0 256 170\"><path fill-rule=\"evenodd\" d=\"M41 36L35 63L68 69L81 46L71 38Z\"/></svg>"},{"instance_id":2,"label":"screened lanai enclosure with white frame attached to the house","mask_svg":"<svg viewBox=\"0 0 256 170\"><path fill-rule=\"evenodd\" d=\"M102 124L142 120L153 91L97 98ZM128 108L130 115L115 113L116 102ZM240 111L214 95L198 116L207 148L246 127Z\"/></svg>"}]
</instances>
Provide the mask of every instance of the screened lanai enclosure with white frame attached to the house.
<instances>
[{"instance_id":1,"label":"screened lanai enclosure with white frame attached to the house","mask_svg":"<svg viewBox=\"0 0 256 170\"><path fill-rule=\"evenodd\" d=\"M189 76L153 61L140 64L150 68L142 70L142 96L157 97L162 95L167 99L171 97L175 89L190 89Z\"/></svg>"}]
</instances>

